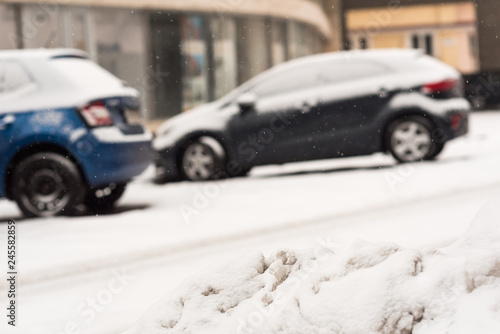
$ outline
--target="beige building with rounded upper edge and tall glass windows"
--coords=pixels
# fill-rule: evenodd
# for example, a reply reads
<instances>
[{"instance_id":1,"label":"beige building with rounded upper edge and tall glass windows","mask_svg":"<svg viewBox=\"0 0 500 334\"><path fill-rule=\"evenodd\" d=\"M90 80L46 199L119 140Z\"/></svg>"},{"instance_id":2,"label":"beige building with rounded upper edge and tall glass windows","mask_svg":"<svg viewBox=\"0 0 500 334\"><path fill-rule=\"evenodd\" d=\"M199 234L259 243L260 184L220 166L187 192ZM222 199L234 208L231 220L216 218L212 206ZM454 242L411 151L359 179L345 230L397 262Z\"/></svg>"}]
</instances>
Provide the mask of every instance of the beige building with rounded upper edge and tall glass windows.
<instances>
[{"instance_id":1,"label":"beige building with rounded upper edge and tall glass windows","mask_svg":"<svg viewBox=\"0 0 500 334\"><path fill-rule=\"evenodd\" d=\"M317 0L0 1L0 49L70 47L137 88L149 120L212 101L331 38Z\"/></svg>"}]
</instances>

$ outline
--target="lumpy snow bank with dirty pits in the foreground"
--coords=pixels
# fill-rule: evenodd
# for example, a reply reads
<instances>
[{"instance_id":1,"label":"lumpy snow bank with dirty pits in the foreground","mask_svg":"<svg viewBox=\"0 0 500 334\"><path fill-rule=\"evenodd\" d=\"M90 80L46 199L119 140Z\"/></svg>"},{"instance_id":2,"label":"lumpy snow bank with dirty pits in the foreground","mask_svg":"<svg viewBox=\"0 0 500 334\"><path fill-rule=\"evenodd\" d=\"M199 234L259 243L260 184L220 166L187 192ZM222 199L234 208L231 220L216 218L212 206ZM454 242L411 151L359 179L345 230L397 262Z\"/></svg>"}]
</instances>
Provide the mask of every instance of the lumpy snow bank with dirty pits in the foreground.
<instances>
[{"instance_id":1,"label":"lumpy snow bank with dirty pits in the foreground","mask_svg":"<svg viewBox=\"0 0 500 334\"><path fill-rule=\"evenodd\" d=\"M500 333L499 204L445 249L244 254L187 281L127 334Z\"/></svg>"}]
</instances>

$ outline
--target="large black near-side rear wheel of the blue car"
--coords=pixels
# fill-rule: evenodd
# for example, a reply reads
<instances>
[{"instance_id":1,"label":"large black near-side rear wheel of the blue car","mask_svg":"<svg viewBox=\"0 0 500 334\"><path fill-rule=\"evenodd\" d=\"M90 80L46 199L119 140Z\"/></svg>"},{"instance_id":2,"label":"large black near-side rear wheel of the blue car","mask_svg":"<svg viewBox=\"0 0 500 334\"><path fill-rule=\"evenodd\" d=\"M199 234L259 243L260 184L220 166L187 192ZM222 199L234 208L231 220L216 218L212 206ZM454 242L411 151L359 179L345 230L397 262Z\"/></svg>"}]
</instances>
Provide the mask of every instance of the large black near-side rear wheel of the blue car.
<instances>
[{"instance_id":1,"label":"large black near-side rear wheel of the blue car","mask_svg":"<svg viewBox=\"0 0 500 334\"><path fill-rule=\"evenodd\" d=\"M51 152L34 154L17 164L10 186L27 217L74 214L86 192L75 164Z\"/></svg>"}]
</instances>

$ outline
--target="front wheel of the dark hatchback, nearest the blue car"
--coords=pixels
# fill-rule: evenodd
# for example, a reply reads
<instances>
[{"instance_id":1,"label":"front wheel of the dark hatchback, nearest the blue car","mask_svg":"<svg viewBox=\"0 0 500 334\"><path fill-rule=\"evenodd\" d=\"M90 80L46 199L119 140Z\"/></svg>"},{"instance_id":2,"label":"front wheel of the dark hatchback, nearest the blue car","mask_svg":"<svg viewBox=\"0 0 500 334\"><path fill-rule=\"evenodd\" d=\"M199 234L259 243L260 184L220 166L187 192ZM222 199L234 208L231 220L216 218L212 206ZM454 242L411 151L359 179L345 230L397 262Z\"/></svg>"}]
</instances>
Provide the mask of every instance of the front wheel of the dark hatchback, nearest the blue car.
<instances>
[{"instance_id":1,"label":"front wheel of the dark hatchback, nearest the blue car","mask_svg":"<svg viewBox=\"0 0 500 334\"><path fill-rule=\"evenodd\" d=\"M225 173L226 154L215 139L201 137L192 141L182 153L182 175L189 181L207 181L219 179Z\"/></svg>"}]
</instances>

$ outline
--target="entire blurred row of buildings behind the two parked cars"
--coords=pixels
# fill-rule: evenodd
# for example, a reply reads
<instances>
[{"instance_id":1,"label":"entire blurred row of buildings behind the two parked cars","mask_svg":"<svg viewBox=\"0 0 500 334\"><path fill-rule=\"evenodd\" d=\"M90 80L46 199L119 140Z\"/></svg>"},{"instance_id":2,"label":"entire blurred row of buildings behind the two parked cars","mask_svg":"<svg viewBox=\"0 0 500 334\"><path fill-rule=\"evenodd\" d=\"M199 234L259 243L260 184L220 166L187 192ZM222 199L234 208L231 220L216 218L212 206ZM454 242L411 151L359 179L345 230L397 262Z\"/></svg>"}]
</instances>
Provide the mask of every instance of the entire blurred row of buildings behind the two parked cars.
<instances>
[{"instance_id":1,"label":"entire blurred row of buildings behind the two parked cars","mask_svg":"<svg viewBox=\"0 0 500 334\"><path fill-rule=\"evenodd\" d=\"M88 51L142 93L153 130L283 61L345 49L423 49L483 90L469 92L482 107L499 79L498 12L487 0L4 0L0 49Z\"/></svg>"}]
</instances>

